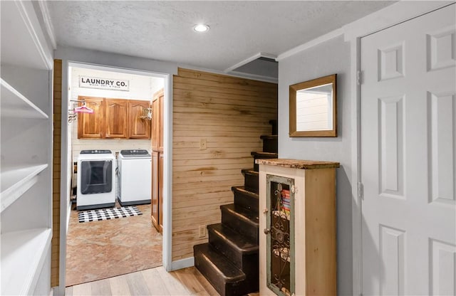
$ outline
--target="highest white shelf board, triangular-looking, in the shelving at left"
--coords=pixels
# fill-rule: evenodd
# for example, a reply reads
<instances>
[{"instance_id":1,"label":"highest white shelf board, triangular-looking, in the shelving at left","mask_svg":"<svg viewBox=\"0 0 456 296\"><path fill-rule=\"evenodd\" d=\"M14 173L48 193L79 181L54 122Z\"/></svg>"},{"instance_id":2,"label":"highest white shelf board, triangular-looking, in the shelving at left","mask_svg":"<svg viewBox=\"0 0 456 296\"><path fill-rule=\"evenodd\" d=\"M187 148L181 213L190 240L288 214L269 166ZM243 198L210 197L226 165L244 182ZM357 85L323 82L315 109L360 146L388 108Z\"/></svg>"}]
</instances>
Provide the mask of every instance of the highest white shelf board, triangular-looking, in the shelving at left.
<instances>
[{"instance_id":1,"label":"highest white shelf board, triangular-looking, in the shelving at left","mask_svg":"<svg viewBox=\"0 0 456 296\"><path fill-rule=\"evenodd\" d=\"M48 119L48 115L1 79L1 116Z\"/></svg>"}]
</instances>

